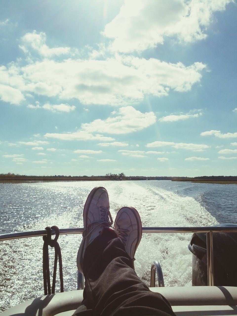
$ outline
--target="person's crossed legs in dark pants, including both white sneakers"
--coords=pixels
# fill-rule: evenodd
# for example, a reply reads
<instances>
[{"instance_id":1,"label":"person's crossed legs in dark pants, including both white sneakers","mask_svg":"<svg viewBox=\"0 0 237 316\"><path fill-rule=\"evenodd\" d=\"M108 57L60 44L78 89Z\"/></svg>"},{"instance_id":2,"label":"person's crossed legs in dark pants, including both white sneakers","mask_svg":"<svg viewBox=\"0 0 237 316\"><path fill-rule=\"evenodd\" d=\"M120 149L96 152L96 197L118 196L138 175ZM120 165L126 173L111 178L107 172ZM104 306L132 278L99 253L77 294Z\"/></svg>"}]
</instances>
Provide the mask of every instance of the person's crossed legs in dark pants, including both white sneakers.
<instances>
[{"instance_id":1,"label":"person's crossed legs in dark pants, including both white sneakers","mask_svg":"<svg viewBox=\"0 0 237 316\"><path fill-rule=\"evenodd\" d=\"M114 227L120 238L116 238L109 222L107 191L93 190L83 212L85 234L77 257L78 269L85 275L84 300L74 315L174 315L169 303L149 291L133 270L142 234L137 211L119 210ZM98 223L101 210L106 214L107 226L103 216L103 225Z\"/></svg>"}]
</instances>

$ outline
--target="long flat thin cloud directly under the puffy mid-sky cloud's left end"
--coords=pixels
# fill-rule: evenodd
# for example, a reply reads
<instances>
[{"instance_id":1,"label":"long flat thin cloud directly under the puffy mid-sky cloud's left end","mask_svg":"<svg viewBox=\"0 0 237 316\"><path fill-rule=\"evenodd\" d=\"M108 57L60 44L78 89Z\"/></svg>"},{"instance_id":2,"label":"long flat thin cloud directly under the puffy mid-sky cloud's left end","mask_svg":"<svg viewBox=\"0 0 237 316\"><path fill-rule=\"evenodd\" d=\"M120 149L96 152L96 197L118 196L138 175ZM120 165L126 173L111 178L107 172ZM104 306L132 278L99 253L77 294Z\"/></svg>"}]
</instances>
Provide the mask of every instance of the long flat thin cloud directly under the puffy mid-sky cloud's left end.
<instances>
[{"instance_id":1,"label":"long flat thin cloud directly under the puffy mid-sky cloud's left end","mask_svg":"<svg viewBox=\"0 0 237 316\"><path fill-rule=\"evenodd\" d=\"M85 131L78 131L74 133L46 133L44 135L45 137L50 137L50 138L57 138L61 140L97 140L97 141L113 141L114 138L112 137L106 137L100 134L92 135L89 134Z\"/></svg>"}]
</instances>

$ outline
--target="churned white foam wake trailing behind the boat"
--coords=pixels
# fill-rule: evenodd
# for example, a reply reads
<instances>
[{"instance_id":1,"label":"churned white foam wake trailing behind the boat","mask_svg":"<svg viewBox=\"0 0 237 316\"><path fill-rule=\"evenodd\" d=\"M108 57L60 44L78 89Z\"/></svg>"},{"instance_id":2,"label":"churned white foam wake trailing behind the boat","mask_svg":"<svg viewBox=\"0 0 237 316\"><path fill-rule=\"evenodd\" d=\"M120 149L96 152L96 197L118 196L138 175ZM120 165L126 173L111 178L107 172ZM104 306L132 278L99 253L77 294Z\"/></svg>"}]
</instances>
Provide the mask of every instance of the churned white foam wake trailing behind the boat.
<instances>
[{"instance_id":1,"label":"churned white foam wake trailing behind the boat","mask_svg":"<svg viewBox=\"0 0 237 316\"><path fill-rule=\"evenodd\" d=\"M154 183L154 181L153 181ZM135 207L143 227L192 227L217 224L194 198L179 196L149 181L123 182L112 185L108 191L111 209L121 206ZM119 188L118 188L119 187ZM112 213L112 210L111 210ZM191 285L192 254L188 244L192 234L143 234L136 252L135 270L149 282L150 267L154 260L160 262L165 286Z\"/></svg>"}]
</instances>

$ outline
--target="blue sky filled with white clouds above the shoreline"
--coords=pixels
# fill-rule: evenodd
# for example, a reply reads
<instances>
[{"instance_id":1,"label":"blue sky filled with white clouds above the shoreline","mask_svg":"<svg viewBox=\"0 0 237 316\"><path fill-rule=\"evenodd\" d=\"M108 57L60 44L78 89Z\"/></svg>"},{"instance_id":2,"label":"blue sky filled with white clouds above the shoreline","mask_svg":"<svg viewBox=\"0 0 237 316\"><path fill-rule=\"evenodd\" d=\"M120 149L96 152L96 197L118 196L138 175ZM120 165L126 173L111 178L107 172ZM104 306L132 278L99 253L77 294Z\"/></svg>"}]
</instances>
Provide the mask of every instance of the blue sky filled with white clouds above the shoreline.
<instances>
[{"instance_id":1,"label":"blue sky filled with white clouds above the shoreline","mask_svg":"<svg viewBox=\"0 0 237 316\"><path fill-rule=\"evenodd\" d=\"M237 3L1 0L0 173L237 175Z\"/></svg>"}]
</instances>

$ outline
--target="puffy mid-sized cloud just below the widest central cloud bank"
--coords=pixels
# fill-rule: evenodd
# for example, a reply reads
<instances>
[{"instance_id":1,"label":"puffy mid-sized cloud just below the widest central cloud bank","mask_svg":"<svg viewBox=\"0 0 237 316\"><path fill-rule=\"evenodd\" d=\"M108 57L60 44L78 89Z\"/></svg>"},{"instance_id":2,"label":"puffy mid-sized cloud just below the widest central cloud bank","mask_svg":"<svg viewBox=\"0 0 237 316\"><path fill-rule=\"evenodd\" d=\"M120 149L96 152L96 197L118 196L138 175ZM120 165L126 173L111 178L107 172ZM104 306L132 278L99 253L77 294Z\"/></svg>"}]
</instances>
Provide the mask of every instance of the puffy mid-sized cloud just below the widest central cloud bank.
<instances>
[{"instance_id":1,"label":"puffy mid-sized cloud just below the widest central cloud bank","mask_svg":"<svg viewBox=\"0 0 237 316\"><path fill-rule=\"evenodd\" d=\"M88 133L100 132L103 126L103 133L127 134L140 131L155 123L156 117L153 112L142 113L132 106L121 107L113 111L108 119L96 119L91 123L82 124L82 129Z\"/></svg>"}]
</instances>

